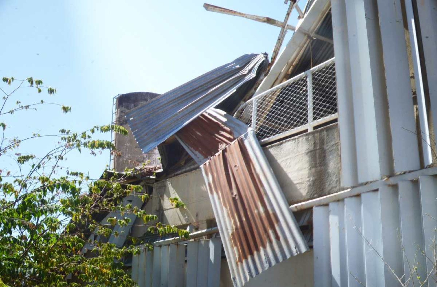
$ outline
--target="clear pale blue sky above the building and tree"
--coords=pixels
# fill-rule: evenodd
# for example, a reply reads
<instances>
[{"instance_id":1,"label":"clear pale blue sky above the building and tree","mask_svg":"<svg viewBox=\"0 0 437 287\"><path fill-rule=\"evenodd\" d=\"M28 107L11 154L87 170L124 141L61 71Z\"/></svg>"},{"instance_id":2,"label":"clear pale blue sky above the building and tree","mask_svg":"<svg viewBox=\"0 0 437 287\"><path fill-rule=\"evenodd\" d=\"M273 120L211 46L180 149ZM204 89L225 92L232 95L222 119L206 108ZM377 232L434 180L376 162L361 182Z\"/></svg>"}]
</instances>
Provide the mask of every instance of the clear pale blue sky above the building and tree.
<instances>
[{"instance_id":1,"label":"clear pale blue sky above the building and tree","mask_svg":"<svg viewBox=\"0 0 437 287\"><path fill-rule=\"evenodd\" d=\"M283 0L208 1L280 21L288 7ZM302 9L305 2L300 2ZM72 107L67 115L46 106L7 116L2 119L7 135L48 134L61 128L82 131L108 124L117 94L164 93L243 54L271 55L280 28L208 12L203 3L0 0L0 76L32 76L58 91L51 98L26 90L19 97L23 103L42 98ZM295 12L288 23L297 23ZM109 134L102 138L109 139ZM38 139L23 148L35 152L55 141ZM99 177L108 161L108 153L85 153L70 156L67 163Z\"/></svg>"}]
</instances>

